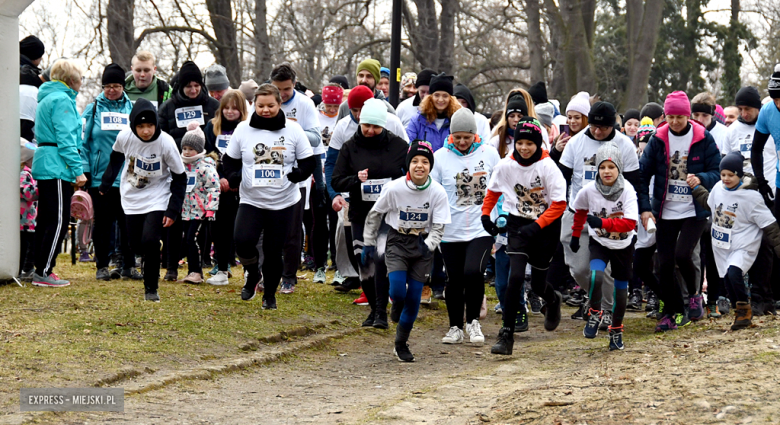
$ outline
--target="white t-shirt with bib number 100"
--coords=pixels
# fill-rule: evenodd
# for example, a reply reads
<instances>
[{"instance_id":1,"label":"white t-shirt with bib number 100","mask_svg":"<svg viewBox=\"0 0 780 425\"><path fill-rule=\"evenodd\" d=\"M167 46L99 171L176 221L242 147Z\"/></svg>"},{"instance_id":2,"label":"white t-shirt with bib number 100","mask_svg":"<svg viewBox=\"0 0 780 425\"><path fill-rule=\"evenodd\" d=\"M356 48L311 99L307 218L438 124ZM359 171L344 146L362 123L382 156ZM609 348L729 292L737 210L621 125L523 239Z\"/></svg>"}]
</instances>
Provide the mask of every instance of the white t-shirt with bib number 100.
<instances>
[{"instance_id":1,"label":"white t-shirt with bib number 100","mask_svg":"<svg viewBox=\"0 0 780 425\"><path fill-rule=\"evenodd\" d=\"M296 160L312 155L309 139L298 123L287 120L277 131L258 130L244 121L236 127L226 152L241 158L242 204L267 210L281 210L301 199L297 184L287 180Z\"/></svg>"}]
</instances>

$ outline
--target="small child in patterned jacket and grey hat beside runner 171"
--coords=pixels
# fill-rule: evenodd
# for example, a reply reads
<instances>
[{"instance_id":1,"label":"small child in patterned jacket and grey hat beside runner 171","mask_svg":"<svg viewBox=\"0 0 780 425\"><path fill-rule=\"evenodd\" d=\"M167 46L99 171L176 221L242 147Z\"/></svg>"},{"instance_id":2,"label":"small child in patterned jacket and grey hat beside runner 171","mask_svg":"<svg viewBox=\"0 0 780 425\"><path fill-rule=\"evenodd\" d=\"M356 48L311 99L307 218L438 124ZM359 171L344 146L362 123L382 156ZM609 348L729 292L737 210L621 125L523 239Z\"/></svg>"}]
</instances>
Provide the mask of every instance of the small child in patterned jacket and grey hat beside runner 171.
<instances>
[{"instance_id":1,"label":"small child in patterned jacket and grey hat beside runner 171","mask_svg":"<svg viewBox=\"0 0 780 425\"><path fill-rule=\"evenodd\" d=\"M219 175L214 162L216 154L207 154L205 144L206 136L198 123L190 123L187 133L181 139L181 160L187 173L187 194L181 212L189 268L189 274L182 279L185 283L203 283L201 247L198 246L197 235L209 222L214 221L214 213L219 209Z\"/></svg>"}]
</instances>

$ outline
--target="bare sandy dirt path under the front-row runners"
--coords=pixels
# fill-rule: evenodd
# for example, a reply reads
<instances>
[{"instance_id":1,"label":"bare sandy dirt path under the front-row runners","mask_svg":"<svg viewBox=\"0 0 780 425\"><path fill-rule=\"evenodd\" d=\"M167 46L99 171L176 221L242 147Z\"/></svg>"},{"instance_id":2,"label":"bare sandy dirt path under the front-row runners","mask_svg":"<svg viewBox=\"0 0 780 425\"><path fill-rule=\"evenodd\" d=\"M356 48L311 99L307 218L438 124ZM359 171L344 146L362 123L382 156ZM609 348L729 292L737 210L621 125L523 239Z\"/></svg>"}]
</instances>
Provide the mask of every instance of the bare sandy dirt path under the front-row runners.
<instances>
[{"instance_id":1,"label":"bare sandy dirt path under the front-row runners","mask_svg":"<svg viewBox=\"0 0 780 425\"><path fill-rule=\"evenodd\" d=\"M356 307L357 308L357 307ZM516 334L511 357L486 344L443 345L446 312L421 310L410 347L392 355L393 331L366 329L285 361L125 399L125 413L44 414L56 424L769 424L780 423L780 320L728 331L730 319L666 335L629 313L626 350L542 316ZM394 329L394 326L391 326ZM121 385L118 385L121 386Z\"/></svg>"}]
</instances>

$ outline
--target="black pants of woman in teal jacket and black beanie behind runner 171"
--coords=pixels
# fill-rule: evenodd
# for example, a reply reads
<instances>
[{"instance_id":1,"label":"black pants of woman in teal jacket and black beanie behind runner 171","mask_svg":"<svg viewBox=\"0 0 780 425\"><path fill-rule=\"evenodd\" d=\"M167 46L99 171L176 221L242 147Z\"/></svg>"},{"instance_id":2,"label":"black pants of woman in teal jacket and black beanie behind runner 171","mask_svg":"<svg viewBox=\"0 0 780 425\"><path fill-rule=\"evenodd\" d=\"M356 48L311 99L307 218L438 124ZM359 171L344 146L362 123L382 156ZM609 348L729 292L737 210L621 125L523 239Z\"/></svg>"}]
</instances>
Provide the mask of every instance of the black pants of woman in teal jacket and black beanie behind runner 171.
<instances>
[{"instance_id":1,"label":"black pants of woman in teal jacket and black beanie behind runner 171","mask_svg":"<svg viewBox=\"0 0 780 425\"><path fill-rule=\"evenodd\" d=\"M114 232L114 223L117 222L120 232L118 251L122 253L122 268L135 267L135 257L127 236L125 211L122 209L119 189L112 188L107 194L101 195L97 188L92 188L89 189L89 195L92 197L92 206L95 208L95 229L92 232L92 241L95 245L97 268L108 267L108 263L111 261L111 236Z\"/></svg>"}]
</instances>

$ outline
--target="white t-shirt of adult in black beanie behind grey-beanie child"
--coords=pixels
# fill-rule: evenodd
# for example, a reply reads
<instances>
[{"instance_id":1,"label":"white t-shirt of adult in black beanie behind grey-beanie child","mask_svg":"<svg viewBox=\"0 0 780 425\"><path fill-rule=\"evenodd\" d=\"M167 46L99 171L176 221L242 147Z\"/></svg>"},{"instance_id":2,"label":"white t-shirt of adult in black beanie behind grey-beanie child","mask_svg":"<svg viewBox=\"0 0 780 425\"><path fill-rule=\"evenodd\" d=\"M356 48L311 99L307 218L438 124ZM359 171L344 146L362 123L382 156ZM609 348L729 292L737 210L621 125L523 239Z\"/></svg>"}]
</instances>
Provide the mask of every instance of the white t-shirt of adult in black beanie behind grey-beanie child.
<instances>
[{"instance_id":1,"label":"white t-shirt of adult in black beanie behind grey-beanie child","mask_svg":"<svg viewBox=\"0 0 780 425\"><path fill-rule=\"evenodd\" d=\"M613 130L614 131L614 130ZM566 144L566 149L561 155L561 164L572 169L571 176L571 197L577 199L577 193L586 184L596 180L598 169L596 166L596 151L604 142L594 140L583 130L572 137ZM639 169L639 159L636 156L636 147L631 139L623 133L615 131L613 142L620 149L620 156L623 159L622 173L629 173ZM664 217L666 218L666 217Z\"/></svg>"}]
</instances>

